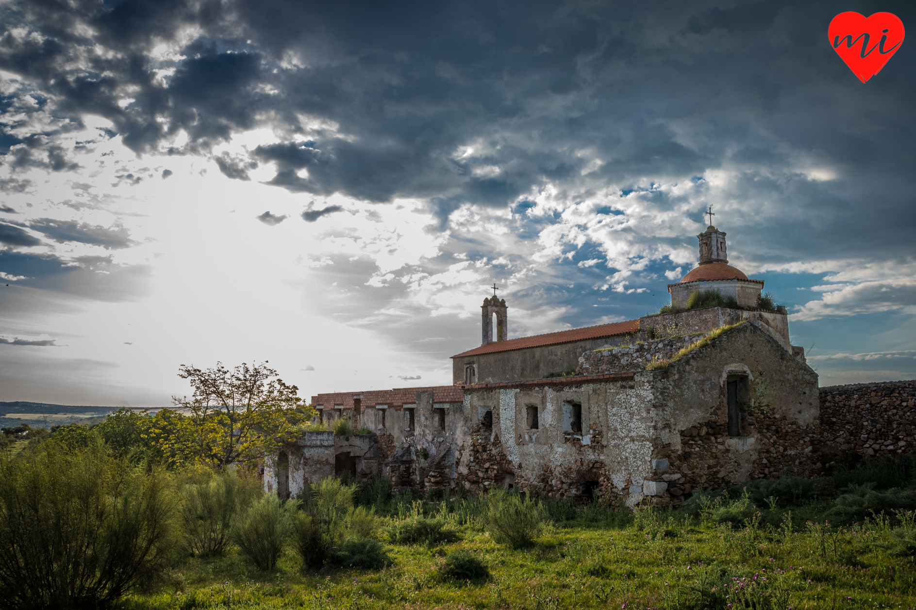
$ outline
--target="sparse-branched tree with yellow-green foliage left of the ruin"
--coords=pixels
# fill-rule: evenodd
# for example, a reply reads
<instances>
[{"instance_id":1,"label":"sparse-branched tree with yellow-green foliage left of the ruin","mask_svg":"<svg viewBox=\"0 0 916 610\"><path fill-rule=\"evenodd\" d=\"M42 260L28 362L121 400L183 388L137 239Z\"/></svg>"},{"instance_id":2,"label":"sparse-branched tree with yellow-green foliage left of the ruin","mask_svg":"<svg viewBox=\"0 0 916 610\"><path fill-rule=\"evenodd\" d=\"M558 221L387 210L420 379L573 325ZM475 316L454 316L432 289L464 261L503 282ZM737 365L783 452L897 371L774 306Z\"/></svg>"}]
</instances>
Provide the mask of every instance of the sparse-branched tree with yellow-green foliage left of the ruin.
<instances>
[{"instance_id":1,"label":"sparse-branched tree with yellow-green foliage left of the ruin","mask_svg":"<svg viewBox=\"0 0 916 610\"><path fill-rule=\"evenodd\" d=\"M179 377L191 382L193 394L173 396L176 409L163 410L148 434L169 460L180 465L201 462L223 468L254 463L292 443L297 426L314 415L267 362L242 363L226 369L181 365Z\"/></svg>"}]
</instances>

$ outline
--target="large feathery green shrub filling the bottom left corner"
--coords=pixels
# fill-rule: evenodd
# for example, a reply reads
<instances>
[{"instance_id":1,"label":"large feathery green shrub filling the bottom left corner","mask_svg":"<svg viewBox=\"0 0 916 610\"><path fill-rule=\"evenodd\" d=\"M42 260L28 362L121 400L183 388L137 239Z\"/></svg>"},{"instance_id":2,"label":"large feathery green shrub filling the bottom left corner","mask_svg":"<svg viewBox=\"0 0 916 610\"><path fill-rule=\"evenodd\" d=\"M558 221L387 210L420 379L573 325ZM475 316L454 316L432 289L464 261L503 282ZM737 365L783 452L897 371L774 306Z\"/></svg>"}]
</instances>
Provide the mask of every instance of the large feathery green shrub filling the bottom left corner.
<instances>
[{"instance_id":1,"label":"large feathery green shrub filling the bottom left corner","mask_svg":"<svg viewBox=\"0 0 916 610\"><path fill-rule=\"evenodd\" d=\"M169 475L103 444L0 455L0 608L113 605L165 569L174 515Z\"/></svg>"}]
</instances>

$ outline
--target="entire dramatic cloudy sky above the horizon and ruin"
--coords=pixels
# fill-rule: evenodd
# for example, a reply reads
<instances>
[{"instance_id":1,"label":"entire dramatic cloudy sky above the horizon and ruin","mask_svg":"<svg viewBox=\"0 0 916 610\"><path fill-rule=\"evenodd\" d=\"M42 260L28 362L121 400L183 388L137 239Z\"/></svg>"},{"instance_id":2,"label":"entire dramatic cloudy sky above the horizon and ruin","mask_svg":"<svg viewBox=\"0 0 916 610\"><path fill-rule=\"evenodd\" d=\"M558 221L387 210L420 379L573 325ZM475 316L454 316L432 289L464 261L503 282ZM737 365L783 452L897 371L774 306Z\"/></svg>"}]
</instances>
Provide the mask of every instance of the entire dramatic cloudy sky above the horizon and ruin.
<instances>
[{"instance_id":1,"label":"entire dramatic cloudy sky above the horizon and ruin","mask_svg":"<svg viewBox=\"0 0 916 610\"><path fill-rule=\"evenodd\" d=\"M486 285L510 337L642 316L710 204L822 385L916 377L914 46L827 41L911 3L0 10L0 401L449 383Z\"/></svg>"}]
</instances>

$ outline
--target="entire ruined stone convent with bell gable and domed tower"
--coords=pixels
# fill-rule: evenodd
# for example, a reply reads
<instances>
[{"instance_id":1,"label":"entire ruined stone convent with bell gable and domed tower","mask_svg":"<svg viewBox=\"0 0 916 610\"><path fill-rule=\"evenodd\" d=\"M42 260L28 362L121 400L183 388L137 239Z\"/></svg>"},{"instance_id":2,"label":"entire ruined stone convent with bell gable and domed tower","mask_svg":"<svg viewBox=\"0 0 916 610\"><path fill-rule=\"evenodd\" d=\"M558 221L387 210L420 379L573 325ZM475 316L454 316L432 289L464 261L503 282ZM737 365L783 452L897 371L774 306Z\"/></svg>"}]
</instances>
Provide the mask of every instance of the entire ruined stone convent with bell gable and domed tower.
<instances>
[{"instance_id":1,"label":"entire ruined stone convent with bell gable and domed tower","mask_svg":"<svg viewBox=\"0 0 916 610\"><path fill-rule=\"evenodd\" d=\"M786 309L761 308L763 281L728 264L725 232L698 237L699 265L668 286L672 313L510 339L506 301L492 296L481 345L452 357L452 385L311 397L320 421L374 432L302 433L267 464L265 487L286 497L349 472L634 506L815 475L817 374L790 344ZM710 289L730 306L686 309Z\"/></svg>"}]
</instances>

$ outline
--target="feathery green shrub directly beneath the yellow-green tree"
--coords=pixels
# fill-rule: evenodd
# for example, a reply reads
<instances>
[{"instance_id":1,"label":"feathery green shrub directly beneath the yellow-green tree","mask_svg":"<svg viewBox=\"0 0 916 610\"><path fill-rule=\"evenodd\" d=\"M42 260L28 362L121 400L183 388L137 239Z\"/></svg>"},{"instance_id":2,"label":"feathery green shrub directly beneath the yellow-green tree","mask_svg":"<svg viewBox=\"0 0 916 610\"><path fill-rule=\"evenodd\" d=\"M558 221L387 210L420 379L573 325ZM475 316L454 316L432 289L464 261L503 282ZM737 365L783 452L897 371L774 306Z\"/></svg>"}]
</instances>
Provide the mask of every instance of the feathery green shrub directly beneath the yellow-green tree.
<instances>
[{"instance_id":1,"label":"feathery green shrub directly beneath the yellow-green tree","mask_svg":"<svg viewBox=\"0 0 916 610\"><path fill-rule=\"evenodd\" d=\"M234 516L260 495L254 478L223 474L207 476L181 489L180 516L191 555L223 555L230 544Z\"/></svg>"}]
</instances>

